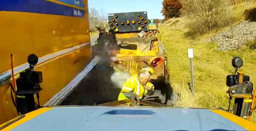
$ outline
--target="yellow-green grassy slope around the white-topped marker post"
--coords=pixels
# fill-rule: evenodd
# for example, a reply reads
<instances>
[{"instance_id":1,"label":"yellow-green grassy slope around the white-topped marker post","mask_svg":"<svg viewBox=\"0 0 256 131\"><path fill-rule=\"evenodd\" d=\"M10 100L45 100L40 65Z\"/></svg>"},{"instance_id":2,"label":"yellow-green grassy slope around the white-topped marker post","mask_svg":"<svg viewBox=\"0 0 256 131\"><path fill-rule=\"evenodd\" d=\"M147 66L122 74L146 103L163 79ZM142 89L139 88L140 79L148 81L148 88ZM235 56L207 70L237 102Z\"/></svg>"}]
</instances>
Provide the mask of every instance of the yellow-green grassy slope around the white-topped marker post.
<instances>
[{"instance_id":1,"label":"yellow-green grassy slope around the white-topped marker post","mask_svg":"<svg viewBox=\"0 0 256 131\"><path fill-rule=\"evenodd\" d=\"M240 12L239 10L236 12ZM191 44L196 40L186 35L187 28L184 27L183 21L183 18L174 18L168 22L169 24L159 25L165 35L164 45L168 55L172 87L180 96L177 106L227 109L226 76L235 71L231 64L232 57L239 56L244 60L241 69L256 84L256 50L244 47L238 50L218 51L216 43ZM188 48L194 50L194 97L187 84L190 82ZM256 122L256 111L251 120Z\"/></svg>"}]
</instances>

